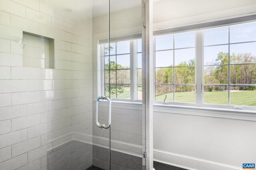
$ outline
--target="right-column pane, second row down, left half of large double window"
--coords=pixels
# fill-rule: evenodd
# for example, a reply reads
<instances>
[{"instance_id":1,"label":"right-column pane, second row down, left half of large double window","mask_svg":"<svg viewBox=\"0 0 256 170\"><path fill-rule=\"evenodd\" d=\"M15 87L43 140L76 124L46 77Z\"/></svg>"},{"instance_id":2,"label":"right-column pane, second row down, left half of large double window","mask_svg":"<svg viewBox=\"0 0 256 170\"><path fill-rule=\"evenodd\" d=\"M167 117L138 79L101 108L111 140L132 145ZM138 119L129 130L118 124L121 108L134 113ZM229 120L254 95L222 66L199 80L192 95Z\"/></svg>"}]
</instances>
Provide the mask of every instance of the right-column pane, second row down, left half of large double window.
<instances>
[{"instance_id":1,"label":"right-column pane, second row down, left half of large double window","mask_svg":"<svg viewBox=\"0 0 256 170\"><path fill-rule=\"evenodd\" d=\"M174 50L175 66L194 66L195 65L195 49Z\"/></svg>"}]
</instances>

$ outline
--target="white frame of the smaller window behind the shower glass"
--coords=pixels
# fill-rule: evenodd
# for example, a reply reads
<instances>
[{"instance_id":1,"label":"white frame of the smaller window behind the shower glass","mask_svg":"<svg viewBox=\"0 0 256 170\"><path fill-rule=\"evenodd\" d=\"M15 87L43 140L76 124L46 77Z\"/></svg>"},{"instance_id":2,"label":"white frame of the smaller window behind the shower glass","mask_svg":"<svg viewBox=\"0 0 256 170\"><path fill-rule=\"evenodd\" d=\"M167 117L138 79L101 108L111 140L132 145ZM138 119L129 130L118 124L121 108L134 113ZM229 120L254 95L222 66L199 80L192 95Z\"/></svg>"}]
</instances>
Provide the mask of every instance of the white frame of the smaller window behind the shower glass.
<instances>
[{"instance_id":1,"label":"white frame of the smaller window behind the shower glass","mask_svg":"<svg viewBox=\"0 0 256 170\"><path fill-rule=\"evenodd\" d=\"M140 39L140 38L138 38ZM130 41L130 99L122 99L122 98L111 98L113 101L122 101L122 102L142 102L142 100L137 99L137 39L125 39L120 41ZM117 43L119 41L111 41L111 43ZM106 43L105 43L106 44ZM104 45L100 44L98 45L98 67L100 66L100 74L98 74L98 78L100 78L100 81L98 82L98 92L100 92L101 96L105 95L105 89L104 89ZM121 54L122 55L122 54Z\"/></svg>"}]
</instances>

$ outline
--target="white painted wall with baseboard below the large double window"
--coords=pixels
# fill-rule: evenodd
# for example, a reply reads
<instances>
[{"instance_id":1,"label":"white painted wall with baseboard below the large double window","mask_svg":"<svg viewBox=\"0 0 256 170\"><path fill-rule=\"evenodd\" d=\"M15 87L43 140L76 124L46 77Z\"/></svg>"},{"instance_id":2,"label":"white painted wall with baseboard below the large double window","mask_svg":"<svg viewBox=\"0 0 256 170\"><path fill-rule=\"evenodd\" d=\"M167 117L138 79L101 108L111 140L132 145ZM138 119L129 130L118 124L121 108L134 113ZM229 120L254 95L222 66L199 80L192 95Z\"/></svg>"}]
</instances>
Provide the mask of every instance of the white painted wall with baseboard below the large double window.
<instances>
[{"instance_id":1,"label":"white painted wall with baseboard below the large double window","mask_svg":"<svg viewBox=\"0 0 256 170\"><path fill-rule=\"evenodd\" d=\"M255 162L255 129L255 121L154 111L154 160L197 170L241 169Z\"/></svg>"}]
</instances>

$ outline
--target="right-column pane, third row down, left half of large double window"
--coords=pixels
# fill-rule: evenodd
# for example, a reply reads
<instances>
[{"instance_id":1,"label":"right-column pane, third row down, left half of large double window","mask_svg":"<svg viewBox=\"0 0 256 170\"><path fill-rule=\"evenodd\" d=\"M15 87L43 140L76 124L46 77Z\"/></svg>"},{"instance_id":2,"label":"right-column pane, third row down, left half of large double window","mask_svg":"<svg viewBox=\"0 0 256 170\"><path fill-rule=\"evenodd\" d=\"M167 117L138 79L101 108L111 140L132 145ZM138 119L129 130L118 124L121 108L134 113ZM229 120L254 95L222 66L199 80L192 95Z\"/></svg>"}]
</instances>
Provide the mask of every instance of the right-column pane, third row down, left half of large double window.
<instances>
[{"instance_id":1,"label":"right-column pane, third row down, left half of large double window","mask_svg":"<svg viewBox=\"0 0 256 170\"><path fill-rule=\"evenodd\" d=\"M195 67L176 67L175 84L194 84Z\"/></svg>"}]
</instances>

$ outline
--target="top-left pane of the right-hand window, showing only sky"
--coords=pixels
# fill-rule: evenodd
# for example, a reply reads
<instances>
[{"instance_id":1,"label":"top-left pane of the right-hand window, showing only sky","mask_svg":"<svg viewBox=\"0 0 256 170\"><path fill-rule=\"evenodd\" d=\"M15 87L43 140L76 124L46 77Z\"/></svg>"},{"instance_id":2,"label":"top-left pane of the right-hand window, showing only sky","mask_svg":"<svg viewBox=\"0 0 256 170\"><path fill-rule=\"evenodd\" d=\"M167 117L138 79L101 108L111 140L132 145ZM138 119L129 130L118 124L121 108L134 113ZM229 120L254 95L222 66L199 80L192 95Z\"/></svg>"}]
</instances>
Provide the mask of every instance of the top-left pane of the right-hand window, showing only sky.
<instances>
[{"instance_id":1,"label":"top-left pane of the right-hand window, showing only sky","mask_svg":"<svg viewBox=\"0 0 256 170\"><path fill-rule=\"evenodd\" d=\"M204 45L216 45L226 43L228 43L228 27L204 30Z\"/></svg>"}]
</instances>

